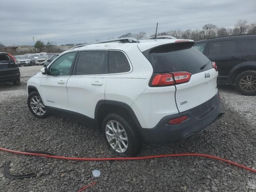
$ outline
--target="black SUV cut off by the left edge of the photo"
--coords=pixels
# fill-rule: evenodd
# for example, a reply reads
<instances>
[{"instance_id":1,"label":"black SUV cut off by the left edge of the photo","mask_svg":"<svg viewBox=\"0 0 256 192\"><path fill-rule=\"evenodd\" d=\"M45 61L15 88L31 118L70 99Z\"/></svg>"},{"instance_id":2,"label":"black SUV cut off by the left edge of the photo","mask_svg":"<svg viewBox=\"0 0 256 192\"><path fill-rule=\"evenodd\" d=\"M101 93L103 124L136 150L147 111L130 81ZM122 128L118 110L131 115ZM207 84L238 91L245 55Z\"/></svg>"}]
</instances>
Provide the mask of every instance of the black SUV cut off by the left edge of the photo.
<instances>
[{"instance_id":1,"label":"black SUV cut off by the left edge of the photo","mask_svg":"<svg viewBox=\"0 0 256 192\"><path fill-rule=\"evenodd\" d=\"M0 82L13 82L20 84L20 69L9 53L0 52Z\"/></svg>"}]
</instances>

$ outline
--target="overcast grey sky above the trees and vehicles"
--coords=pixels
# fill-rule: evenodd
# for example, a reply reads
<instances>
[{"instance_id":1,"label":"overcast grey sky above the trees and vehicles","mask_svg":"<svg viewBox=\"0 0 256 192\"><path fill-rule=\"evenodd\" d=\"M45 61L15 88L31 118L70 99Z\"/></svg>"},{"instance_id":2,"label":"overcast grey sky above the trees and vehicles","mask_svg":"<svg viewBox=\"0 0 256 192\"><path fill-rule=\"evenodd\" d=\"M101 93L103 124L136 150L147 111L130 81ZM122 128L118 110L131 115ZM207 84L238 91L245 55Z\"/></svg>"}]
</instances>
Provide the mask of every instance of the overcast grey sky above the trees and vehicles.
<instances>
[{"instance_id":1,"label":"overcast grey sky above the trees and vehicles","mask_svg":"<svg viewBox=\"0 0 256 192\"><path fill-rule=\"evenodd\" d=\"M9 0L0 6L0 42L57 45L118 37L200 29L206 23L230 27L238 19L256 22L256 0Z\"/></svg>"}]
</instances>

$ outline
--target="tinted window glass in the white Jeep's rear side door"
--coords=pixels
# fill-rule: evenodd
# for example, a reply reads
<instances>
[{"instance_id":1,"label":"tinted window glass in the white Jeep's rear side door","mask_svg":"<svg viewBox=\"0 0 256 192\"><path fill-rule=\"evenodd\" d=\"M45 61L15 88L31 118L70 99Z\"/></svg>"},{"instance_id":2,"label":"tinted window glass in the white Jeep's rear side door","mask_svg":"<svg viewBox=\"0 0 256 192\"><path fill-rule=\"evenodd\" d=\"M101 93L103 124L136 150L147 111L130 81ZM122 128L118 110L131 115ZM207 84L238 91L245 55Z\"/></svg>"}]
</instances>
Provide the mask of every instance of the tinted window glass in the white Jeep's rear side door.
<instances>
[{"instance_id":1,"label":"tinted window glass in the white Jeep's rear side door","mask_svg":"<svg viewBox=\"0 0 256 192\"><path fill-rule=\"evenodd\" d=\"M75 75L96 75L108 73L107 51L80 52Z\"/></svg>"}]
</instances>

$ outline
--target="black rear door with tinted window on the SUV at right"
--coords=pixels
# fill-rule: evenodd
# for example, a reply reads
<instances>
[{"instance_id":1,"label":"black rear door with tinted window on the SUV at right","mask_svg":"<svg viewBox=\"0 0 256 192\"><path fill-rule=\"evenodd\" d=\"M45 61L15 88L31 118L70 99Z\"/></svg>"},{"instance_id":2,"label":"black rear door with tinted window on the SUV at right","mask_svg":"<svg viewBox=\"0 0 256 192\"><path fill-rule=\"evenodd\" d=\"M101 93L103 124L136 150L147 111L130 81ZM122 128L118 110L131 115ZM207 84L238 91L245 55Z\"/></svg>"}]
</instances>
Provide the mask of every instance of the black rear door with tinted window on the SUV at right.
<instances>
[{"instance_id":1,"label":"black rear door with tinted window on the SUV at right","mask_svg":"<svg viewBox=\"0 0 256 192\"><path fill-rule=\"evenodd\" d=\"M236 39L212 40L208 47L206 56L217 64L218 81L227 82L230 70L242 62L242 54Z\"/></svg>"}]
</instances>

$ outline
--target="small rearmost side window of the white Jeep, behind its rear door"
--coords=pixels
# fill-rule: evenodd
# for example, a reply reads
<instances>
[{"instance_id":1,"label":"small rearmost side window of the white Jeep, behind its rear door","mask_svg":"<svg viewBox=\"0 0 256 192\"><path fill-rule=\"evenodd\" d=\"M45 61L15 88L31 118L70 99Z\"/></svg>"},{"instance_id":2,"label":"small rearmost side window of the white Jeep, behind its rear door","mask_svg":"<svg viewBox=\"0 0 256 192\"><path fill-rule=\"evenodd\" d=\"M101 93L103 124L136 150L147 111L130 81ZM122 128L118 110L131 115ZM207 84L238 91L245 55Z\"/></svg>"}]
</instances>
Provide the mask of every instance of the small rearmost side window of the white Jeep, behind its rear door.
<instances>
[{"instance_id":1,"label":"small rearmost side window of the white Jeep, behind its rear door","mask_svg":"<svg viewBox=\"0 0 256 192\"><path fill-rule=\"evenodd\" d=\"M109 73L123 73L130 71L130 64L120 51L109 51L108 53Z\"/></svg>"}]
</instances>

